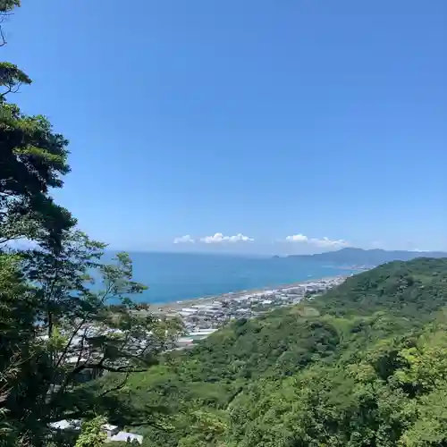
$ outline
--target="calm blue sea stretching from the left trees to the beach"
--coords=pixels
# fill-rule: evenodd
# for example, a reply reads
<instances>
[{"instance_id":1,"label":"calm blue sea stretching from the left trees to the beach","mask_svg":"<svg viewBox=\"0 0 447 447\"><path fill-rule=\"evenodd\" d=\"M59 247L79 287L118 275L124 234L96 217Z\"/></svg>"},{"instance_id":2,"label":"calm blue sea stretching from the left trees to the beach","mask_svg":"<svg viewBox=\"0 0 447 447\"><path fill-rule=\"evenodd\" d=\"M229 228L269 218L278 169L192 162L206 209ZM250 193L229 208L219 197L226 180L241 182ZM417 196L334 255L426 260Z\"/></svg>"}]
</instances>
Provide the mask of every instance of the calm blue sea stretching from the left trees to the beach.
<instances>
[{"instance_id":1,"label":"calm blue sea stretching from the left trees to the beach","mask_svg":"<svg viewBox=\"0 0 447 447\"><path fill-rule=\"evenodd\" d=\"M284 257L130 253L135 281L149 289L135 300L164 303L350 274L337 266Z\"/></svg>"}]
</instances>

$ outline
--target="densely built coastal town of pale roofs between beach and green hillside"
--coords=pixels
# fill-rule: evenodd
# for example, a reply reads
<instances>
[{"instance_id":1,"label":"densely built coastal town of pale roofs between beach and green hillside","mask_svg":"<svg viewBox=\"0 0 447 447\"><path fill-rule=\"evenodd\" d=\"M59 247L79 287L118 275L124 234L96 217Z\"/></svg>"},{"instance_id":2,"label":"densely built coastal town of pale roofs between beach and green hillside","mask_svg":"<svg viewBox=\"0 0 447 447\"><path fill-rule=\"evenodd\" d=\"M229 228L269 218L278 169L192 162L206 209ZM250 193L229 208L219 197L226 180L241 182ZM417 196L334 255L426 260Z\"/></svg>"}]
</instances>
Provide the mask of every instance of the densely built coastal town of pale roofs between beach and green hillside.
<instances>
[{"instance_id":1,"label":"densely built coastal town of pale roofs between beach and green hillside","mask_svg":"<svg viewBox=\"0 0 447 447\"><path fill-rule=\"evenodd\" d=\"M343 283L346 277L340 275L274 289L240 291L210 298L177 301L158 308L157 312L181 318L187 334L179 338L178 349L187 349L231 320L260 316L275 308L298 304L305 298L312 299Z\"/></svg>"}]
</instances>

